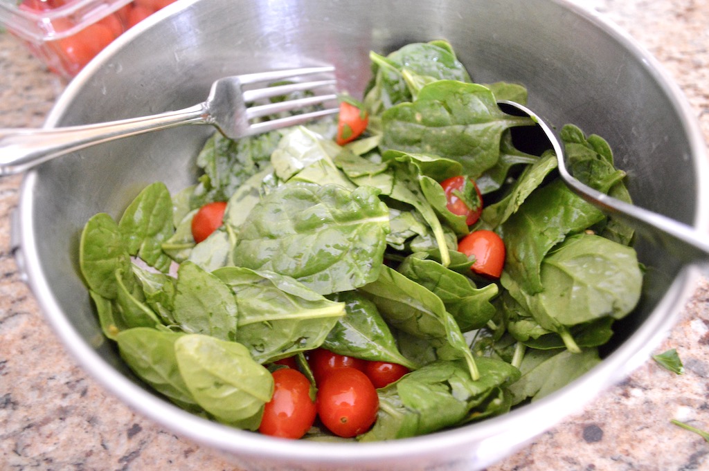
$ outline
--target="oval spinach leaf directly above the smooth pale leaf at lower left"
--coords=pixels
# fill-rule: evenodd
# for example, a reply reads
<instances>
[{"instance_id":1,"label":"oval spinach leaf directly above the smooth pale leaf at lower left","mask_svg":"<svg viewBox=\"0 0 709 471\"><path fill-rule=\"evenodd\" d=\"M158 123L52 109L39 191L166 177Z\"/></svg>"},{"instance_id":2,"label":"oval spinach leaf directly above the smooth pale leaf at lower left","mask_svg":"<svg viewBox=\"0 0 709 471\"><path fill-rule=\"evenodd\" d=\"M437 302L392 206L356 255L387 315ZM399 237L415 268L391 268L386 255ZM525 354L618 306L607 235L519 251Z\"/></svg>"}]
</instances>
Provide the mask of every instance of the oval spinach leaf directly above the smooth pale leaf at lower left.
<instances>
[{"instance_id":1,"label":"oval spinach leaf directly above the smooth pale leaf at lower left","mask_svg":"<svg viewBox=\"0 0 709 471\"><path fill-rule=\"evenodd\" d=\"M234 294L222 280L194 263L180 265L173 317L183 331L234 341L237 312Z\"/></svg>"}]
</instances>

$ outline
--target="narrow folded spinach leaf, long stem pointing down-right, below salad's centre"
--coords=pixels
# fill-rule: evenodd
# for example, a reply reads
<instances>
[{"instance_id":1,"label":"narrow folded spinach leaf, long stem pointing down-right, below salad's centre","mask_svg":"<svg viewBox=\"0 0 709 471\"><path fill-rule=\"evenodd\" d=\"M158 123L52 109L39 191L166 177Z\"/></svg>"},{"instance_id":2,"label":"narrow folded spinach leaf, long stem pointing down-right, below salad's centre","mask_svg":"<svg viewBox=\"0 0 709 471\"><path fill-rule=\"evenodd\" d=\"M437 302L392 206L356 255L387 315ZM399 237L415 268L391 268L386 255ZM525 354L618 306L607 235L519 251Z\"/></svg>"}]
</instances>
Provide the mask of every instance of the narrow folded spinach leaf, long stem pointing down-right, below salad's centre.
<instances>
[{"instance_id":1,"label":"narrow folded spinach leaf, long stem pointing down-right, below salad's centre","mask_svg":"<svg viewBox=\"0 0 709 471\"><path fill-rule=\"evenodd\" d=\"M393 328L437 348L438 358L464 358L472 378L479 378L475 360L455 319L435 294L401 273L384 266L379 278L359 288Z\"/></svg>"}]
</instances>

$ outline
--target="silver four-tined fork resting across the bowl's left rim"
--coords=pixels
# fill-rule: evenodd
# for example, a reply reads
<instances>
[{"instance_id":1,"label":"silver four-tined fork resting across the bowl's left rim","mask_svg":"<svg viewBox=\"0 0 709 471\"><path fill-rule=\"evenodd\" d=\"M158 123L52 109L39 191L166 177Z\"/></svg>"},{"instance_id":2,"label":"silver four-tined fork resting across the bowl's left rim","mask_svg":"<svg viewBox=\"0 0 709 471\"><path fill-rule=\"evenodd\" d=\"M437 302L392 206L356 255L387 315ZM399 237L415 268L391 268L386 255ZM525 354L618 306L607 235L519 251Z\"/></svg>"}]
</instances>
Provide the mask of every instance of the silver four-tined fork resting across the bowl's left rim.
<instances>
[{"instance_id":1,"label":"silver four-tined fork resting across the bowl's left rim","mask_svg":"<svg viewBox=\"0 0 709 471\"><path fill-rule=\"evenodd\" d=\"M238 139L303 124L337 113L337 107L289 115L284 118L258 122L257 120L276 113L328 103L336 100L337 94L315 94L262 105L253 103L298 91L328 91L327 89L332 89L336 83L334 71L334 67L325 66L228 76L212 84L208 98L203 103L142 118L53 129L0 129L0 176L21 173L55 157L101 142L179 125L214 125L226 137ZM303 79L307 76L313 80L293 81L253 89L246 87L288 79Z\"/></svg>"}]
</instances>

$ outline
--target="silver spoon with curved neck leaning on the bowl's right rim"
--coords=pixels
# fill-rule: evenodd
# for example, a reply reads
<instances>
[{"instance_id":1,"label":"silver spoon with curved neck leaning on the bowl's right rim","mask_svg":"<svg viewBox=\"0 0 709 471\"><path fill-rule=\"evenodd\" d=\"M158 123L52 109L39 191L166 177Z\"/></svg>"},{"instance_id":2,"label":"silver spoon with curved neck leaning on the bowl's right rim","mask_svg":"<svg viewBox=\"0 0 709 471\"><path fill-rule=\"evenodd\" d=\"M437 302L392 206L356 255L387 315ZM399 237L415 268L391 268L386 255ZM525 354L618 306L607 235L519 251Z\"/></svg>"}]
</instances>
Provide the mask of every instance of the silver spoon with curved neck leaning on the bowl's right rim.
<instances>
[{"instance_id":1,"label":"silver spoon with curved neck leaning on the bowl's right rim","mask_svg":"<svg viewBox=\"0 0 709 471\"><path fill-rule=\"evenodd\" d=\"M653 244L667 249L679 261L683 263L709 261L708 234L698 232L691 226L657 214L657 212L625 203L625 201L613 198L581 183L566 169L564 145L554 128L547 125L539 115L519 103L501 100L498 101L498 105L505 113L527 115L537 123L537 126L544 132L547 140L552 145L554 154L557 154L559 174L571 191L574 191L574 193L605 212L605 214L623 220L627 225L636 229L639 234L647 237Z\"/></svg>"}]
</instances>

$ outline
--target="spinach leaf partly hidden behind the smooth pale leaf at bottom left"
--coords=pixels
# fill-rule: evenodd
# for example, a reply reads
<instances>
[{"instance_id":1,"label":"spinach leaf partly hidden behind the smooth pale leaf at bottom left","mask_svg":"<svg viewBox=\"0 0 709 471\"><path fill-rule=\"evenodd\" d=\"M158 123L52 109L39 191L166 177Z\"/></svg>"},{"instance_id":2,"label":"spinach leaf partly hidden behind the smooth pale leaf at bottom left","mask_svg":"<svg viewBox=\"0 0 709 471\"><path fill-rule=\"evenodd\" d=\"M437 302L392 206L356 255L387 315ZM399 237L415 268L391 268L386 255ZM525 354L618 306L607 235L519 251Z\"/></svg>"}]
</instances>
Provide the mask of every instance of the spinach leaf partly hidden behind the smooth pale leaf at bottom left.
<instances>
[{"instance_id":1,"label":"spinach leaf partly hidden behind the smooth pale leaf at bottom left","mask_svg":"<svg viewBox=\"0 0 709 471\"><path fill-rule=\"evenodd\" d=\"M187 410L199 406L185 385L177 368L174 344L182 333L136 327L116 336L121 358L157 392Z\"/></svg>"}]
</instances>

